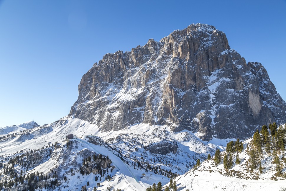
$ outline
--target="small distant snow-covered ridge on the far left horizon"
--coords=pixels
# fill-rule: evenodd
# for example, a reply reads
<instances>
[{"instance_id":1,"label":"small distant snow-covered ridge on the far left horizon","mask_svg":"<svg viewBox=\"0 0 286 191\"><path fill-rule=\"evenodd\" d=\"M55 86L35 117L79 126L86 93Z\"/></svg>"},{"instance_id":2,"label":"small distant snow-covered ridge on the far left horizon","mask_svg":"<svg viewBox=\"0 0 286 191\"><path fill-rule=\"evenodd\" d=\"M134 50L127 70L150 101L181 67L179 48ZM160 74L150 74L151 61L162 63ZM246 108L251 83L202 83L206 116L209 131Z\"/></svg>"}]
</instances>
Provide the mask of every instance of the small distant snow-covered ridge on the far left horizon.
<instances>
[{"instance_id":1,"label":"small distant snow-covered ridge on the far left horizon","mask_svg":"<svg viewBox=\"0 0 286 191\"><path fill-rule=\"evenodd\" d=\"M20 125L12 125L12 126L2 127L2 128L0 128L0 136L6 136L6 135L11 134L11 133L17 133L19 131L31 129L31 128L38 127L38 126L40 126L40 125L38 125L36 122L28 121L28 122L22 123Z\"/></svg>"}]
</instances>

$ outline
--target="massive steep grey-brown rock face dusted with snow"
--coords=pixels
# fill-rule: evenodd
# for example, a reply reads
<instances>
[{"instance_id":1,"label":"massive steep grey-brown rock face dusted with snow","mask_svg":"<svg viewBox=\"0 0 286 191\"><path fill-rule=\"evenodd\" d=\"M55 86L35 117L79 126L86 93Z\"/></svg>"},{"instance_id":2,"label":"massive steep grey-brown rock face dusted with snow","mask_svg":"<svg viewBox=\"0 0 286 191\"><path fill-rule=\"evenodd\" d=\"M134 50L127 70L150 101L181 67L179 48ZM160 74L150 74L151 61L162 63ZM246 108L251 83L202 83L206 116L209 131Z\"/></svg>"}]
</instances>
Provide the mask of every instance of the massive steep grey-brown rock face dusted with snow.
<instances>
[{"instance_id":1,"label":"massive steep grey-brown rock face dusted with snow","mask_svg":"<svg viewBox=\"0 0 286 191\"><path fill-rule=\"evenodd\" d=\"M265 68L246 63L223 32L205 24L106 54L78 87L70 116L104 131L149 123L210 140L246 138L261 125L286 122L285 101Z\"/></svg>"}]
</instances>

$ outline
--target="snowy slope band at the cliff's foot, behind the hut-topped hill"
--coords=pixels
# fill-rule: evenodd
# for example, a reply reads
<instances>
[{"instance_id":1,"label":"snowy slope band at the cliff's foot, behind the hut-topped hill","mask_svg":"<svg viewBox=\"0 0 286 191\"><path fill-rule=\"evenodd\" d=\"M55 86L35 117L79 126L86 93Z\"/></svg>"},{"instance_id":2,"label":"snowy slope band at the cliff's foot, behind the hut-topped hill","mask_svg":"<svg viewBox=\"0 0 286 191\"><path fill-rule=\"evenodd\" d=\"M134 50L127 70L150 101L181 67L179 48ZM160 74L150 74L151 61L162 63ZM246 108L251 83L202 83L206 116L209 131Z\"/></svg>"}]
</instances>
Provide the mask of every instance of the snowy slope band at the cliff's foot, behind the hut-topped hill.
<instances>
[{"instance_id":1,"label":"snowy slope band at the cliff's foot, behind the hut-topped hill","mask_svg":"<svg viewBox=\"0 0 286 191\"><path fill-rule=\"evenodd\" d=\"M137 124L121 131L102 132L96 125L84 120L64 117L50 125L2 138L0 154L7 155L25 148L39 148L49 142L60 142L69 133L77 136L95 135L101 137L112 148L121 150L126 158L133 159L136 156L140 161L148 161L152 158L150 164L155 166L158 165L159 158L162 158L161 167L168 171L172 170L176 174L187 172L197 159L206 159L208 153L214 154L217 148L223 149L226 146L224 140L221 140L221 144L217 146L201 141L187 130L174 133L167 126ZM141 156L144 156L145 159L141 159ZM177 158L180 160L175 164L170 163Z\"/></svg>"}]
</instances>

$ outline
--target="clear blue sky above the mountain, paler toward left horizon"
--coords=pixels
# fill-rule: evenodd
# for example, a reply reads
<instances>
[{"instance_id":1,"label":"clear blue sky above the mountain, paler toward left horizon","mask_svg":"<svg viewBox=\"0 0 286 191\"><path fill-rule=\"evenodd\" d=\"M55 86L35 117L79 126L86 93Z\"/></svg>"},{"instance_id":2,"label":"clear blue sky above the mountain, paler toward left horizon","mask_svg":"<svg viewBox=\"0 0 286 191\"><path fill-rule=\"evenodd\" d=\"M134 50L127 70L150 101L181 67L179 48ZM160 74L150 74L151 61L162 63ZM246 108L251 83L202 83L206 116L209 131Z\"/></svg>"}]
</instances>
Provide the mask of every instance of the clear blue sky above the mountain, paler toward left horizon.
<instances>
[{"instance_id":1,"label":"clear blue sky above the mountain, paler toward left horizon","mask_svg":"<svg viewBox=\"0 0 286 191\"><path fill-rule=\"evenodd\" d=\"M81 77L104 54L192 23L225 32L247 62L262 63L286 100L285 0L0 0L0 127L68 115Z\"/></svg>"}]
</instances>

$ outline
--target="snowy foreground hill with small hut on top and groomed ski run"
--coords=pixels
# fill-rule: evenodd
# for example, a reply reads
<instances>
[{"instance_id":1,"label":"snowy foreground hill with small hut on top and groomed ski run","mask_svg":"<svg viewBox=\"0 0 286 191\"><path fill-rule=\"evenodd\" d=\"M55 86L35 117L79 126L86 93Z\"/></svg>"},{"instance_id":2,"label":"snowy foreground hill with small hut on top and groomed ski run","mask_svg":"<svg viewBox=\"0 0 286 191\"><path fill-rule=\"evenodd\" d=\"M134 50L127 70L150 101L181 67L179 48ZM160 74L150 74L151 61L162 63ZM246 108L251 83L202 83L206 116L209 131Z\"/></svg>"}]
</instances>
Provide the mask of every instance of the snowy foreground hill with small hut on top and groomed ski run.
<instances>
[{"instance_id":1,"label":"snowy foreground hill with small hut on top and groomed ski run","mask_svg":"<svg viewBox=\"0 0 286 191\"><path fill-rule=\"evenodd\" d=\"M37 144L37 142L35 143ZM10 148L10 151L15 150L13 146ZM86 186L87 189L97 187L98 190L120 188L126 191L144 191L146 187L152 185L153 181L161 181L163 183L169 181L167 177L154 173L142 177L142 173L146 173L144 169L130 166L131 160L124 160L118 151L95 136L87 136L83 137L83 139L75 139L69 142L60 141L57 144L49 142L46 146L34 149L36 148L11 153L2 156L0 159L9 168L9 171L13 170L17 174L20 174L21 170L24 172L21 174L26 176L27 174L39 173L40 175L36 175L38 182L34 186L37 185L39 188L44 188L45 185L50 185L50 187L47 187L47 190L54 189L54 186L51 186L53 185L51 182L55 181L55 179L57 179L56 186L66 191L80 190L82 186ZM27 153L29 154L26 155ZM98 160L97 162L94 161L95 166L96 164L101 166L102 175L95 170L92 173L81 173L82 166L84 166L83 160L88 159L89 156L93 158L94 154L101 154L105 157L102 159L103 163L107 158L107 160L111 160L111 164L103 167L102 161L99 163ZM13 159L13 165L11 159ZM93 159L90 163L93 163ZM2 180L10 175L7 171L5 174L5 169L0 167ZM150 179L151 174L152 180ZM43 177L47 175L47 178L41 179L42 175ZM12 190L27 188L27 182L24 180L24 184L14 186ZM89 185L87 185L87 182L89 182Z\"/></svg>"}]
</instances>

